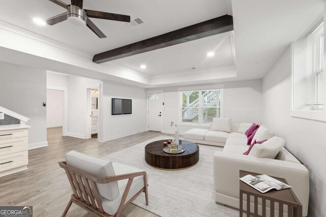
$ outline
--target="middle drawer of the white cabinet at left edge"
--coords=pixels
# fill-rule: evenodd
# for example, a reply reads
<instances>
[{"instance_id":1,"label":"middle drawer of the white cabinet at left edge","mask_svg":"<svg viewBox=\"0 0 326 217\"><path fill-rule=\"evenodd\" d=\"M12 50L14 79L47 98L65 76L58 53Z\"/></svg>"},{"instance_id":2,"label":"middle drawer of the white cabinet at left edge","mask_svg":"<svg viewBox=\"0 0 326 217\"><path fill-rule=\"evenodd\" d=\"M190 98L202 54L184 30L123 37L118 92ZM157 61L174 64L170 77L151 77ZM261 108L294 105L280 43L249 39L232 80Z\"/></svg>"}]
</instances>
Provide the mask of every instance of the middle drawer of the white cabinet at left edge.
<instances>
[{"instance_id":1,"label":"middle drawer of the white cabinet at left edge","mask_svg":"<svg viewBox=\"0 0 326 217\"><path fill-rule=\"evenodd\" d=\"M28 137L0 140L0 156L4 154L28 150Z\"/></svg>"}]
</instances>

